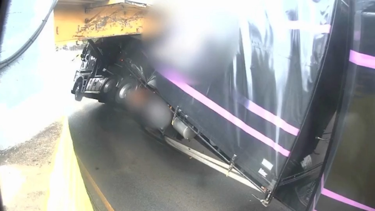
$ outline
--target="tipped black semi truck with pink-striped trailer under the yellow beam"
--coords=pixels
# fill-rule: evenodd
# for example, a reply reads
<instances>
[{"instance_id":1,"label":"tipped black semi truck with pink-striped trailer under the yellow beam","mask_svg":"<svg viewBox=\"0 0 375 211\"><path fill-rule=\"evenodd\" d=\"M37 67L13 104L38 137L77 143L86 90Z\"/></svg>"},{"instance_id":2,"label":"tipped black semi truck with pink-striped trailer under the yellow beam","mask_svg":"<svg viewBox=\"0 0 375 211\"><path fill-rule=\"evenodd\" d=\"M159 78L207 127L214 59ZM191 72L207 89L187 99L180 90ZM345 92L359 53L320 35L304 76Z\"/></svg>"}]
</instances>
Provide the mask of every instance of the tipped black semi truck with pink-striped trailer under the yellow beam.
<instances>
[{"instance_id":1,"label":"tipped black semi truck with pink-striped trailer under the yellow beam","mask_svg":"<svg viewBox=\"0 0 375 211\"><path fill-rule=\"evenodd\" d=\"M357 76L375 77L374 3L287 2L244 5L236 55L207 83L163 74L141 31L86 37L71 93L132 111L156 138L257 190L265 206L277 199L295 211L373 211L374 155L348 153L374 149L373 132L347 133L360 133L348 129L353 121L373 125L360 108L374 97Z\"/></svg>"}]
</instances>

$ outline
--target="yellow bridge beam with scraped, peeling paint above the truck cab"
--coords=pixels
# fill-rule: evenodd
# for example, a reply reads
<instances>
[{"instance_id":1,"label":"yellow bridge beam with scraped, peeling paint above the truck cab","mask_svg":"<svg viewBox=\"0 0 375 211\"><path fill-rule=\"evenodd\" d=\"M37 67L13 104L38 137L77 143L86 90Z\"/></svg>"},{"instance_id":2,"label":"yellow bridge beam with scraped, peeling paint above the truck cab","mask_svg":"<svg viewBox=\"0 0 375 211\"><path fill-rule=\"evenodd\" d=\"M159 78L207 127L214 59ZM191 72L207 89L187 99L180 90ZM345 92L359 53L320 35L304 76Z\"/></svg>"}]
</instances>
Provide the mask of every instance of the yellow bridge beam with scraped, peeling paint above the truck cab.
<instances>
[{"instance_id":1,"label":"yellow bridge beam with scraped, peeling paint above the truck cab","mask_svg":"<svg viewBox=\"0 0 375 211\"><path fill-rule=\"evenodd\" d=\"M142 33L146 10L145 4L124 0L88 5L58 4L54 9L55 44Z\"/></svg>"}]
</instances>

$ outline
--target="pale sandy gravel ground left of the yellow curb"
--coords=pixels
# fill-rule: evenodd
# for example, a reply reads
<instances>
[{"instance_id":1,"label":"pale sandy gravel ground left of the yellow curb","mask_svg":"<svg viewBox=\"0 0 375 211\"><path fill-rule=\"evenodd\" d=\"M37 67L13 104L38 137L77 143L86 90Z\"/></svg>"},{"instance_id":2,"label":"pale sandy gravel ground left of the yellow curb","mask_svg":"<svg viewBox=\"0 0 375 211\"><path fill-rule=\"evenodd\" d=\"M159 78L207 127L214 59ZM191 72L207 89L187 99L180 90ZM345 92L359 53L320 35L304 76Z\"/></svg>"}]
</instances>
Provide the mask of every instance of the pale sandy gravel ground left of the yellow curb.
<instances>
[{"instance_id":1,"label":"pale sandy gravel ground left of the yellow curb","mask_svg":"<svg viewBox=\"0 0 375 211\"><path fill-rule=\"evenodd\" d=\"M62 124L55 122L27 142L0 152L0 188L7 211L45 209L51 162L61 130Z\"/></svg>"}]
</instances>

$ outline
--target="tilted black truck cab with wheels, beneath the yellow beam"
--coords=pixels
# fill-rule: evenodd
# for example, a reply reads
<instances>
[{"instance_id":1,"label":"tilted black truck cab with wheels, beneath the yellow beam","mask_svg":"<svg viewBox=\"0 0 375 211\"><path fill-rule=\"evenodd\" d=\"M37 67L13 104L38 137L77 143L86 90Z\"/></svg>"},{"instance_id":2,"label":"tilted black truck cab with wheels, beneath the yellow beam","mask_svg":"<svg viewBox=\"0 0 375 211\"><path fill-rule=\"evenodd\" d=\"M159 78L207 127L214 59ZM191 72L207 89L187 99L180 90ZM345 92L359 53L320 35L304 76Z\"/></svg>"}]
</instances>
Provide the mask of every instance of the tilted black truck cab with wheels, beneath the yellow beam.
<instances>
[{"instance_id":1,"label":"tilted black truck cab with wheels, beneath the yellow beam","mask_svg":"<svg viewBox=\"0 0 375 211\"><path fill-rule=\"evenodd\" d=\"M123 103L130 84L156 89L156 74L142 51L139 36L118 36L89 41L81 54L71 93L99 102Z\"/></svg>"}]
</instances>

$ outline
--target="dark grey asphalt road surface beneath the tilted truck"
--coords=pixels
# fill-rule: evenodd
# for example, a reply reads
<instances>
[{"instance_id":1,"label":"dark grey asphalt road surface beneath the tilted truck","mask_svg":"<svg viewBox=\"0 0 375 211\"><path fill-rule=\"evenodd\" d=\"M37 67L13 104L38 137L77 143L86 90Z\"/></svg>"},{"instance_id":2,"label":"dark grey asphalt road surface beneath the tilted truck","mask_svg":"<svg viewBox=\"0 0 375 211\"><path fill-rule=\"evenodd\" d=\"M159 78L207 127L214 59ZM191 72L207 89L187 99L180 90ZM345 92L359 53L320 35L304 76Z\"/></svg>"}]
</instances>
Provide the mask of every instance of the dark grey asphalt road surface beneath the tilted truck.
<instances>
[{"instance_id":1,"label":"dark grey asphalt road surface beneath the tilted truck","mask_svg":"<svg viewBox=\"0 0 375 211\"><path fill-rule=\"evenodd\" d=\"M276 200L264 207L252 197L255 190L151 138L108 105L84 105L69 127L98 210L287 210Z\"/></svg>"}]
</instances>

